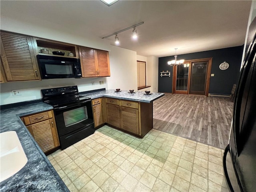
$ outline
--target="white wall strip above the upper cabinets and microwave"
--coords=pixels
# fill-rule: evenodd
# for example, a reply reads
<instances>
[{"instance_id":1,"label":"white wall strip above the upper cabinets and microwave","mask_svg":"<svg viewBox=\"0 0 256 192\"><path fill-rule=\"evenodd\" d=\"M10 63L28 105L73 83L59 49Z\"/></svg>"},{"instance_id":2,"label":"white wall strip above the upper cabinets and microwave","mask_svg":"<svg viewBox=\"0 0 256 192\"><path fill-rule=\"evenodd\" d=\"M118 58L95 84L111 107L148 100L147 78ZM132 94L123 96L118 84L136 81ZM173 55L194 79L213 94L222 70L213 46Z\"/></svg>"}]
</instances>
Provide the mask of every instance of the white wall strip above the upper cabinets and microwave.
<instances>
[{"instance_id":1,"label":"white wall strip above the upper cabinets and microwave","mask_svg":"<svg viewBox=\"0 0 256 192\"><path fill-rule=\"evenodd\" d=\"M1 30L16 32L56 41L97 48L101 50L110 50L110 42L100 37L84 35L83 32L73 28L63 28L51 22L46 22L39 18L26 16L10 18L1 13Z\"/></svg>"}]
</instances>

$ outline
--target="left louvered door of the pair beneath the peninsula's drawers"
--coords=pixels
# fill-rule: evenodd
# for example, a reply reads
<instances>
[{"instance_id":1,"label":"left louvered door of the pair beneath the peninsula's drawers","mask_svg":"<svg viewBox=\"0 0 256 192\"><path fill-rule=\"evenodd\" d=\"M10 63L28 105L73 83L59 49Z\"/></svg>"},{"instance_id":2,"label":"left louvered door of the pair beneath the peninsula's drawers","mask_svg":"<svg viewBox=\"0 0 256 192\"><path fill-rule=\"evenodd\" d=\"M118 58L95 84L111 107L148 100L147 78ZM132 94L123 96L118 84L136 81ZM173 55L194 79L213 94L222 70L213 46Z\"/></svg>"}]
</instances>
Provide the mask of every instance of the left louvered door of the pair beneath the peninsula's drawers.
<instances>
[{"instance_id":1,"label":"left louvered door of the pair beneath the peninsula's drawers","mask_svg":"<svg viewBox=\"0 0 256 192\"><path fill-rule=\"evenodd\" d=\"M107 122L110 125L120 127L120 108L118 105L106 104Z\"/></svg>"}]
</instances>

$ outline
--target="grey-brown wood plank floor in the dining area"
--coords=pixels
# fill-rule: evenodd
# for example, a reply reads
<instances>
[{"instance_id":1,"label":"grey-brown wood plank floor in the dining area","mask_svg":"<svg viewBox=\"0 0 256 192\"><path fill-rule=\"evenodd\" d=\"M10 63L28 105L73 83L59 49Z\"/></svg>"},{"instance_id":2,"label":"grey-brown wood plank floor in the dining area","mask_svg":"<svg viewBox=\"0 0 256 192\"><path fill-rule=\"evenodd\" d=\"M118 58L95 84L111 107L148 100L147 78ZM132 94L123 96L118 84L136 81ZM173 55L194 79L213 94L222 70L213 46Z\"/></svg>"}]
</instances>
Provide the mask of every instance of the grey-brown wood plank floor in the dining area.
<instances>
[{"instance_id":1,"label":"grey-brown wood plank floor in the dining area","mask_svg":"<svg viewBox=\"0 0 256 192\"><path fill-rule=\"evenodd\" d=\"M229 98L165 94L153 103L153 128L224 149L232 112Z\"/></svg>"}]
</instances>

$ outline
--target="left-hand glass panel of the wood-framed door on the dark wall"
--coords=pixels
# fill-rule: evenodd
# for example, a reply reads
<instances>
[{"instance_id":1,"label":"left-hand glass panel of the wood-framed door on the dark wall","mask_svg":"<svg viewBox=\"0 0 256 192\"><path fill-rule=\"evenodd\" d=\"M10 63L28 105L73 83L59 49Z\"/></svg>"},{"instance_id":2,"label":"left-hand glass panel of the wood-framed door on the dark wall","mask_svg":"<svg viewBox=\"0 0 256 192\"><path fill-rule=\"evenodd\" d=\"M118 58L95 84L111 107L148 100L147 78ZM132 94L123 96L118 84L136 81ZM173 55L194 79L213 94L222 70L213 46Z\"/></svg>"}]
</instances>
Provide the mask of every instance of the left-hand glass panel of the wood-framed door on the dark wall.
<instances>
[{"instance_id":1,"label":"left-hand glass panel of the wood-framed door on the dark wall","mask_svg":"<svg viewBox=\"0 0 256 192\"><path fill-rule=\"evenodd\" d=\"M174 90L176 94L188 94L189 62L174 66Z\"/></svg>"}]
</instances>

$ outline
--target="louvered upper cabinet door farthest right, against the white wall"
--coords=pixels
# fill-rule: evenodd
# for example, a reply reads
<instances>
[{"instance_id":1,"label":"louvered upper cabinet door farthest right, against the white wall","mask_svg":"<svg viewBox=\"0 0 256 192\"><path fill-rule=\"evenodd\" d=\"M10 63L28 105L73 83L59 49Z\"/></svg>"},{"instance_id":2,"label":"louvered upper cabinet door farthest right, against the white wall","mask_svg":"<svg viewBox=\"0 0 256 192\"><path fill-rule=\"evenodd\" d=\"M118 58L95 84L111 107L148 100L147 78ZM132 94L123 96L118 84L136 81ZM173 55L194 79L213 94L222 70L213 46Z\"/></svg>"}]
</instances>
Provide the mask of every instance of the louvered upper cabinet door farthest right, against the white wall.
<instances>
[{"instance_id":1,"label":"louvered upper cabinet door farthest right, against the white wall","mask_svg":"<svg viewBox=\"0 0 256 192\"><path fill-rule=\"evenodd\" d=\"M110 76L108 51L96 50L96 52L97 52L97 63L98 63L98 76L99 77Z\"/></svg>"}]
</instances>

